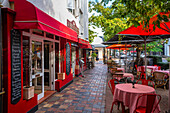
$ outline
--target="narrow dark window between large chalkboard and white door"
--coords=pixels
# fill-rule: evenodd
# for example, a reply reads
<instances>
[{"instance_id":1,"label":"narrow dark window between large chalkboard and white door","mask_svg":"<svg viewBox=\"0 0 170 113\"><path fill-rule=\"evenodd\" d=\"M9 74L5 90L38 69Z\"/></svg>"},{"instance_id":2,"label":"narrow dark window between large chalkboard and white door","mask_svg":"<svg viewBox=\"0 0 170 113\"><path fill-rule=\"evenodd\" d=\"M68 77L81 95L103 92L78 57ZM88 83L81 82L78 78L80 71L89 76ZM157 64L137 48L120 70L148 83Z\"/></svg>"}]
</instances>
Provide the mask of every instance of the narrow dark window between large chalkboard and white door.
<instances>
[{"instance_id":1,"label":"narrow dark window between large chalkboard and white door","mask_svg":"<svg viewBox=\"0 0 170 113\"><path fill-rule=\"evenodd\" d=\"M29 86L29 37L23 36L23 85Z\"/></svg>"}]
</instances>

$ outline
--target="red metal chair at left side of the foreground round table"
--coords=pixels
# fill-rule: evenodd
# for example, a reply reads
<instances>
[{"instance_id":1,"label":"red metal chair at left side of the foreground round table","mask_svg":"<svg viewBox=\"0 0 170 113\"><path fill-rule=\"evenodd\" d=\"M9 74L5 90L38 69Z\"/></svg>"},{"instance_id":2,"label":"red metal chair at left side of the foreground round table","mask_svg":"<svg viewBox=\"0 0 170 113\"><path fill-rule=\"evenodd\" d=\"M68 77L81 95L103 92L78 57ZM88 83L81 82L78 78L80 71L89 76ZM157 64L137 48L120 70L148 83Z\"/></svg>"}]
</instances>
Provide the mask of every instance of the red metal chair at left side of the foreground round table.
<instances>
[{"instance_id":1,"label":"red metal chair at left side of the foreground round table","mask_svg":"<svg viewBox=\"0 0 170 113\"><path fill-rule=\"evenodd\" d=\"M113 96L114 96L114 90L115 90L115 82L119 83L119 81L116 80L116 79L111 79L111 80L109 80L109 82L108 82L108 86L109 86L109 88L110 88ZM114 105L115 103L118 103L118 108L117 108L118 110L119 110L119 105L121 104L121 106L122 106L122 113L124 113L124 112L125 112L125 106L124 106L123 102L118 101L118 100L112 102L112 107L111 107L111 109L110 109L110 113L112 113L113 105Z\"/></svg>"}]
</instances>

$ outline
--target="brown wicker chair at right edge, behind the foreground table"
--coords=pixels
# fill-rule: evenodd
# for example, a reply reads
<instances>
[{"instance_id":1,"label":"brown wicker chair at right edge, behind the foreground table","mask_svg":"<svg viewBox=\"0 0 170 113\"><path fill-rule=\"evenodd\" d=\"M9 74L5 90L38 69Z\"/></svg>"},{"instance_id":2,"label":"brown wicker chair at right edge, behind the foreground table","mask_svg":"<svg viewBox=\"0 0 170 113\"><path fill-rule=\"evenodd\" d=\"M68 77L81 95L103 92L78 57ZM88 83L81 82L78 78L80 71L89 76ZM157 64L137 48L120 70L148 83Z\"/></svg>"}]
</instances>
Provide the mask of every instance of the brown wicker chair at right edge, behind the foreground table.
<instances>
[{"instance_id":1,"label":"brown wicker chair at right edge, behind the foreground table","mask_svg":"<svg viewBox=\"0 0 170 113\"><path fill-rule=\"evenodd\" d=\"M153 73L153 80L155 82L155 88L157 86L164 86L164 89L166 89L166 84L169 81L169 78L166 78L167 73L164 72L154 72Z\"/></svg>"}]
</instances>

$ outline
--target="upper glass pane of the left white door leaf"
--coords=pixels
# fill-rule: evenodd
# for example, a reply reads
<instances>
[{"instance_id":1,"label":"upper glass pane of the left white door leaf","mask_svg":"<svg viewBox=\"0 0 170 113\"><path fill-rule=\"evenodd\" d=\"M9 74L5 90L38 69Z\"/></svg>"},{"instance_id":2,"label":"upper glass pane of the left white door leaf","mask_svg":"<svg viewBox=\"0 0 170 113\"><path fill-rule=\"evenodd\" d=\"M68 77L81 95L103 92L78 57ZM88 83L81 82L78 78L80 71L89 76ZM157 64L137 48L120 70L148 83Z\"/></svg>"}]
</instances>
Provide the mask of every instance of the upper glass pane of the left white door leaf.
<instances>
[{"instance_id":1,"label":"upper glass pane of the left white door leaf","mask_svg":"<svg viewBox=\"0 0 170 113\"><path fill-rule=\"evenodd\" d=\"M32 41L32 74L42 72L42 43Z\"/></svg>"}]
</instances>

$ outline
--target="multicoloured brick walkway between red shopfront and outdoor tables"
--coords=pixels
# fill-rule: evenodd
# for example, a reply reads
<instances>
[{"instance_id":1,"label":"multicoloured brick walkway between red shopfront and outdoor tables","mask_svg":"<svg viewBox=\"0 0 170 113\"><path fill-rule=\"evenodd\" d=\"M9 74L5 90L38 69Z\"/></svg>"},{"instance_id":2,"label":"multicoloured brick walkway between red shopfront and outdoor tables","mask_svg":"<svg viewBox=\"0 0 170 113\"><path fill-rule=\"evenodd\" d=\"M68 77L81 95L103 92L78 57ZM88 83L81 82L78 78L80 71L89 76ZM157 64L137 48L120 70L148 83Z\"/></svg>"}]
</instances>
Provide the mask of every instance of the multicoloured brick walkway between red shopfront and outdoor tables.
<instances>
[{"instance_id":1,"label":"multicoloured brick walkway between red shopfront and outdoor tables","mask_svg":"<svg viewBox=\"0 0 170 113\"><path fill-rule=\"evenodd\" d=\"M77 77L61 92L39 105L37 113L104 113L106 99L106 65L97 64Z\"/></svg>"}]
</instances>

